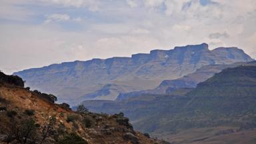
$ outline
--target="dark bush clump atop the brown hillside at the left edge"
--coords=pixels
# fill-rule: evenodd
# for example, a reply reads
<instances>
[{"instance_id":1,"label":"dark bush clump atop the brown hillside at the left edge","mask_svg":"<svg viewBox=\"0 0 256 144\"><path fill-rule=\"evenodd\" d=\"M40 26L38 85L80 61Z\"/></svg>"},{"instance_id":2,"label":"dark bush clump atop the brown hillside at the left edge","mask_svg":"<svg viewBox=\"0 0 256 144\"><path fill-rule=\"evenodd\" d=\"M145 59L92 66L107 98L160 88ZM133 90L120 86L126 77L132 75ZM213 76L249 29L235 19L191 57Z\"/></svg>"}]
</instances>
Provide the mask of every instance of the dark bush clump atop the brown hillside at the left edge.
<instances>
[{"instance_id":1,"label":"dark bush clump atop the brown hillside at the left edge","mask_svg":"<svg viewBox=\"0 0 256 144\"><path fill-rule=\"evenodd\" d=\"M5 75L0 71L0 83L8 83L19 87L24 87L24 81L17 75Z\"/></svg>"}]
</instances>

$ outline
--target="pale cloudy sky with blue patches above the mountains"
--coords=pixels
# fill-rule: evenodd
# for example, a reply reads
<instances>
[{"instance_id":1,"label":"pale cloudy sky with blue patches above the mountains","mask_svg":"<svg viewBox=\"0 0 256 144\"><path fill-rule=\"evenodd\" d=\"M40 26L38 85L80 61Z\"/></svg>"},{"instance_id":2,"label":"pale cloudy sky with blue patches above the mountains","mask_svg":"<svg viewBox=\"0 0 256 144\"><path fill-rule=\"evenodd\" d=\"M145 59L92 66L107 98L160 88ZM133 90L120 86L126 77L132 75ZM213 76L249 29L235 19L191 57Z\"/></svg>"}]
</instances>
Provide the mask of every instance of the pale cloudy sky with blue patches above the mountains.
<instances>
[{"instance_id":1,"label":"pale cloudy sky with blue patches above the mountains","mask_svg":"<svg viewBox=\"0 0 256 144\"><path fill-rule=\"evenodd\" d=\"M208 43L256 58L255 0L0 0L0 70Z\"/></svg>"}]
</instances>

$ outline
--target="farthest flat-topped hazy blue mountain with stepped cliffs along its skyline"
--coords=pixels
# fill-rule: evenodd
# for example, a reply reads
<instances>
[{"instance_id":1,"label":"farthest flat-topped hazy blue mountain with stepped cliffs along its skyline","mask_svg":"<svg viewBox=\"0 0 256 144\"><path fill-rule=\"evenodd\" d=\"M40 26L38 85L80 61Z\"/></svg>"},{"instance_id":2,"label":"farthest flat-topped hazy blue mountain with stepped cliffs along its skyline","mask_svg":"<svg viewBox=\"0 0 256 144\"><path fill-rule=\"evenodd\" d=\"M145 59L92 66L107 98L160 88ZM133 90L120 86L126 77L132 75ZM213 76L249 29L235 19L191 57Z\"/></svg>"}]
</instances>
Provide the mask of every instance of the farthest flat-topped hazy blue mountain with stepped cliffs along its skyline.
<instances>
[{"instance_id":1,"label":"farthest flat-topped hazy blue mountain with stepped cliffs along its skyline","mask_svg":"<svg viewBox=\"0 0 256 144\"><path fill-rule=\"evenodd\" d=\"M32 89L54 93L60 101L72 104L86 99L113 100L119 93L153 89L163 80L183 77L203 65L251 60L241 49L231 47L210 51L203 43L153 50L132 57L53 64L14 75L25 79L26 85Z\"/></svg>"}]
</instances>

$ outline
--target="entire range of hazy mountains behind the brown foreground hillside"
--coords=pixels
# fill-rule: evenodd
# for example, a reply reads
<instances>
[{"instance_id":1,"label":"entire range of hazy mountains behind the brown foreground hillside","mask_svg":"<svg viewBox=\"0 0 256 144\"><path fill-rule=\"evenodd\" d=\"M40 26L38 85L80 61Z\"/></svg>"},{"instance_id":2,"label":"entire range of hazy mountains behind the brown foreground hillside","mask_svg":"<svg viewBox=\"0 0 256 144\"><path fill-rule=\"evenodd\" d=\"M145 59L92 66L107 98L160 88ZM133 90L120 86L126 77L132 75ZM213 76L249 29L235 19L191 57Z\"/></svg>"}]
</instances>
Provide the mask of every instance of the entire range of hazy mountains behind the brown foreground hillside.
<instances>
[{"instance_id":1,"label":"entire range of hazy mountains behind the brown foreground hillside","mask_svg":"<svg viewBox=\"0 0 256 144\"><path fill-rule=\"evenodd\" d=\"M242 144L255 143L255 68L237 47L209 50L202 43L14 75L31 89L57 94L59 103L81 103L103 115L125 113L135 130L170 143ZM39 91L33 93L55 97Z\"/></svg>"}]
</instances>

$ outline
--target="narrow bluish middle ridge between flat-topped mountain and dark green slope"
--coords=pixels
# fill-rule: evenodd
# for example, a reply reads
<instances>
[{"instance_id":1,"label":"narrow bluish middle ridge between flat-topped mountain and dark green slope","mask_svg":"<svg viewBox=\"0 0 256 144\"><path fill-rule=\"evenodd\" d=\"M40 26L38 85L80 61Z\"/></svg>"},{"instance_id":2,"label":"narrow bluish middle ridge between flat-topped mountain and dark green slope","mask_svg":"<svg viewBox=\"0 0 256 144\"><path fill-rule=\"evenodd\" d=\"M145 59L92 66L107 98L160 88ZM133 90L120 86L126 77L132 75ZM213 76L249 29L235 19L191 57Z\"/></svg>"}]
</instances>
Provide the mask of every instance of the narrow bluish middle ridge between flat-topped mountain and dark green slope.
<instances>
[{"instance_id":1,"label":"narrow bluish middle ridge between flat-topped mountain and dark green slope","mask_svg":"<svg viewBox=\"0 0 256 144\"><path fill-rule=\"evenodd\" d=\"M139 95L153 94L153 95L168 95L169 93L180 88L195 88L198 83L206 81L215 73L221 72L223 69L237 67L239 65L251 65L250 62L239 62L228 65L205 65L194 73L185 75L179 79L165 80L155 89L147 89L143 91L133 91L130 93L120 93L117 100L128 99L129 97L136 97Z\"/></svg>"}]
</instances>

